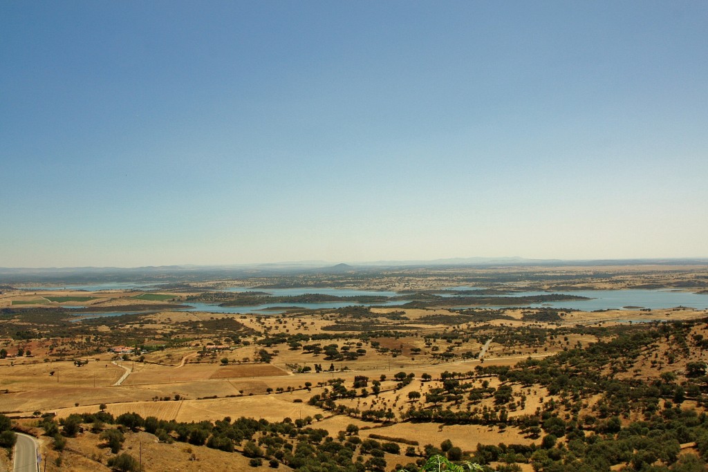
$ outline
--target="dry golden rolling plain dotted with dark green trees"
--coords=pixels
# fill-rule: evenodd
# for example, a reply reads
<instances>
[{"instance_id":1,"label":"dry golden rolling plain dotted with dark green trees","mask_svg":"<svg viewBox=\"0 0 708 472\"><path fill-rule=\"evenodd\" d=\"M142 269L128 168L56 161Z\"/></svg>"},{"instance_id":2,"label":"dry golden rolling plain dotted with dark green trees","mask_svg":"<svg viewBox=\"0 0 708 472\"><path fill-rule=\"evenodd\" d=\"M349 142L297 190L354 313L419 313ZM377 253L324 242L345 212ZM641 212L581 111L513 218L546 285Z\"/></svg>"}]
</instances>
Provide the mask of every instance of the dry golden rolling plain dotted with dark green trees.
<instances>
[{"instance_id":1,"label":"dry golden rolling plain dotted with dark green trees","mask_svg":"<svg viewBox=\"0 0 708 472\"><path fill-rule=\"evenodd\" d=\"M556 306L593 290L708 301L705 265L1 290L0 413L47 471L120 454L145 471L413 471L440 452L499 471L705 469L706 306Z\"/></svg>"}]
</instances>

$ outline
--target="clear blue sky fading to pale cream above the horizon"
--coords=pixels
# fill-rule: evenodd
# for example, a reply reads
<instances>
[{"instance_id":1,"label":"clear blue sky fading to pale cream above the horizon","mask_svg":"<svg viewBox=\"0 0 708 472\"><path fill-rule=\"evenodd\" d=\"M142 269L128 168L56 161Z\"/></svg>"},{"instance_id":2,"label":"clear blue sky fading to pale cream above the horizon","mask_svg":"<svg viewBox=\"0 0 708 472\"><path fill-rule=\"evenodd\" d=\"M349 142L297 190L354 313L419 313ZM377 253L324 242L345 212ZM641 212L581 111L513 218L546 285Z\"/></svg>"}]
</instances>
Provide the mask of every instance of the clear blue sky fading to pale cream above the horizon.
<instances>
[{"instance_id":1,"label":"clear blue sky fading to pale cream above the horizon","mask_svg":"<svg viewBox=\"0 0 708 472\"><path fill-rule=\"evenodd\" d=\"M0 2L0 267L708 257L705 1Z\"/></svg>"}]
</instances>

